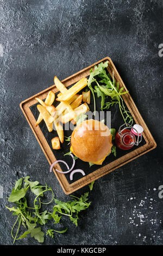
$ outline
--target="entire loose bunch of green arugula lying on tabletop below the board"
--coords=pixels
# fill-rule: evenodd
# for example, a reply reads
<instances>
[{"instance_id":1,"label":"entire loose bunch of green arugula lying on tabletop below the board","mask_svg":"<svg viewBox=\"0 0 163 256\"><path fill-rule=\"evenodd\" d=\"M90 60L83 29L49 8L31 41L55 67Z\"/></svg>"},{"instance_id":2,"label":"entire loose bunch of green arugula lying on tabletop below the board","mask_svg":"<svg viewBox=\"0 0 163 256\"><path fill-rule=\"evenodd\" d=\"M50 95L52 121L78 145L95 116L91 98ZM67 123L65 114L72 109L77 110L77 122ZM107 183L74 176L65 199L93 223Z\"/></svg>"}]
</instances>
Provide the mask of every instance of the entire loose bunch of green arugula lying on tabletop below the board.
<instances>
[{"instance_id":1,"label":"entire loose bunch of green arugula lying on tabletop below the board","mask_svg":"<svg viewBox=\"0 0 163 256\"><path fill-rule=\"evenodd\" d=\"M90 203L87 203L89 192L85 193L80 198L72 196L72 201L70 202L61 202L58 199L54 199L54 193L51 187L42 186L38 181L30 181L29 176L25 178L20 178L16 181L14 188L12 188L12 192L10 197L8 198L9 202L14 203L15 205L11 208L5 206L9 211L12 212L13 215L16 215L16 221L11 229L11 236L14 239L14 243L16 240L23 239L30 234L31 237L34 237L37 241L44 241L44 233L39 227L39 225L45 225L48 220L54 219L54 223L59 223L60 219L63 215L70 217L70 220L78 225L78 213L87 209ZM23 186L24 184L24 186ZM92 190L93 184L91 185L90 191ZM33 207L29 207L26 198L26 192L32 192L35 194ZM52 199L48 203L42 202L44 193L47 191L52 192ZM42 199L41 199L41 198ZM55 201L55 205L53 207L53 212L48 212L47 210L41 212L42 204L49 204ZM60 215L60 216L59 216ZM20 236L21 225L26 228L26 231ZM15 232L15 229L17 230ZM64 230L55 230L48 229L46 235L51 237L54 236L54 232L57 233L65 233L67 228Z\"/></svg>"}]
</instances>

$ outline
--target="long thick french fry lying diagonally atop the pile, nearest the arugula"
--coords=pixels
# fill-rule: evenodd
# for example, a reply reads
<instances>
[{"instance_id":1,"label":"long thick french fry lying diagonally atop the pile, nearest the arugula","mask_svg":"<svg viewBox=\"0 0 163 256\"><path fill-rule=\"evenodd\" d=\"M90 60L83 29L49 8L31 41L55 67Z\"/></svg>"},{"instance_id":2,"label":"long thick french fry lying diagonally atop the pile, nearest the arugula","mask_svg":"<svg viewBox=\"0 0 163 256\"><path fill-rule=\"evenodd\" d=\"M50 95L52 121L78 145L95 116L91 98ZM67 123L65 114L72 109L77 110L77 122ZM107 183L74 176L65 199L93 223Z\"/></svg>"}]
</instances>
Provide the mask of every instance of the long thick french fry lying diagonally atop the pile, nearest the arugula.
<instances>
[{"instance_id":1,"label":"long thick french fry lying diagonally atop the pile, nearest the arugula","mask_svg":"<svg viewBox=\"0 0 163 256\"><path fill-rule=\"evenodd\" d=\"M76 95L80 90L87 86L87 78L84 77L80 81L78 81L74 86L67 90L64 94L59 96L56 100L57 101L67 101L70 100L71 97Z\"/></svg>"}]
</instances>

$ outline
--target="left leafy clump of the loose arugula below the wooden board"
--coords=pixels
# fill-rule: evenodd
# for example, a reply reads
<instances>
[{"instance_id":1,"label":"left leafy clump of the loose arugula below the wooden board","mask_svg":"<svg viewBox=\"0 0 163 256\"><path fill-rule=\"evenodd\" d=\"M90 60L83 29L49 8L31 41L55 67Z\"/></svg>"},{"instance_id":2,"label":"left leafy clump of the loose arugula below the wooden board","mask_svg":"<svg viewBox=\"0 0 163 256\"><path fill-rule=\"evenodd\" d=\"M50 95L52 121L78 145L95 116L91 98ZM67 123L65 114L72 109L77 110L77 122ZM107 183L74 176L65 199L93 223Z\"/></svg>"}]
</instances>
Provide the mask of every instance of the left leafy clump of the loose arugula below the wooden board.
<instances>
[{"instance_id":1,"label":"left leafy clump of the loose arugula below the wooden board","mask_svg":"<svg viewBox=\"0 0 163 256\"><path fill-rule=\"evenodd\" d=\"M38 224L43 225L47 220L51 220L52 215L47 211L40 212L41 204L51 203L54 198L54 193L51 187L41 186L38 181L29 181L29 176L20 178L16 181L15 187L12 189L10 197L8 198L9 202L14 203L16 206L9 208L5 206L9 211L12 211L13 215L17 216L17 219L11 229L11 236L15 240L22 239L30 234L31 237L34 237L37 241L44 241L44 233L41 230L41 227L37 227ZM24 181L24 187L23 186ZM27 204L26 192L30 188L30 191L35 194L34 206L29 207ZM52 192L52 200L48 203L41 202L40 197L43 197L43 193L46 191ZM39 202L39 205L37 204ZM32 211L33 210L33 211ZM18 223L16 234L14 235L14 230L16 224ZM24 231L22 235L17 237L21 224L27 230Z\"/></svg>"}]
</instances>

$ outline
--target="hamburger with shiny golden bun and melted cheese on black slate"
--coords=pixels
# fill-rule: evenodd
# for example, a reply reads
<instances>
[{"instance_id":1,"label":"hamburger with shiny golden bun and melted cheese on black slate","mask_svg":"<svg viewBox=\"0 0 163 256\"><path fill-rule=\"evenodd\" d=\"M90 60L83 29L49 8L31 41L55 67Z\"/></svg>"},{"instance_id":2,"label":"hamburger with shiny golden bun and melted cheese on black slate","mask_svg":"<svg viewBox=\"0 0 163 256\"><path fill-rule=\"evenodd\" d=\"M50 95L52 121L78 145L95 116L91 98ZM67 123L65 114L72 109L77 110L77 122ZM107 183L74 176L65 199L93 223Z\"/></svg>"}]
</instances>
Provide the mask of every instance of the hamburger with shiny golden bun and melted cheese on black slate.
<instances>
[{"instance_id":1,"label":"hamburger with shiny golden bun and melted cheese on black slate","mask_svg":"<svg viewBox=\"0 0 163 256\"><path fill-rule=\"evenodd\" d=\"M108 126L97 120L85 120L71 135L71 152L84 162L102 164L111 153L112 136Z\"/></svg>"}]
</instances>

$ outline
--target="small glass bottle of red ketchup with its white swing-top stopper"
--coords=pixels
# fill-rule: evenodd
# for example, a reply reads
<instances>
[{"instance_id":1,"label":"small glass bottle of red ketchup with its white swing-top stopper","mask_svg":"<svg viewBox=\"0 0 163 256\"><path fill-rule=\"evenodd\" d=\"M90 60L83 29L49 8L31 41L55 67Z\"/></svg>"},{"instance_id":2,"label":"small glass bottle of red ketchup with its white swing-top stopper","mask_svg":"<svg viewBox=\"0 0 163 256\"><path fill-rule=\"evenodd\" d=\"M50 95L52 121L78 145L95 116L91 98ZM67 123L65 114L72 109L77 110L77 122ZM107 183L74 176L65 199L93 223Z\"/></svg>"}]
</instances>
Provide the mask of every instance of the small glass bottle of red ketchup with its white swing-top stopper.
<instances>
[{"instance_id":1,"label":"small glass bottle of red ketchup with its white swing-top stopper","mask_svg":"<svg viewBox=\"0 0 163 256\"><path fill-rule=\"evenodd\" d=\"M126 127L122 129L123 126ZM135 124L134 126L131 126L129 124L123 124L116 133L115 143L120 149L131 149L134 147L134 145L139 145L139 143L142 141L142 132L143 127L141 125ZM135 136L137 136L137 140Z\"/></svg>"}]
</instances>

